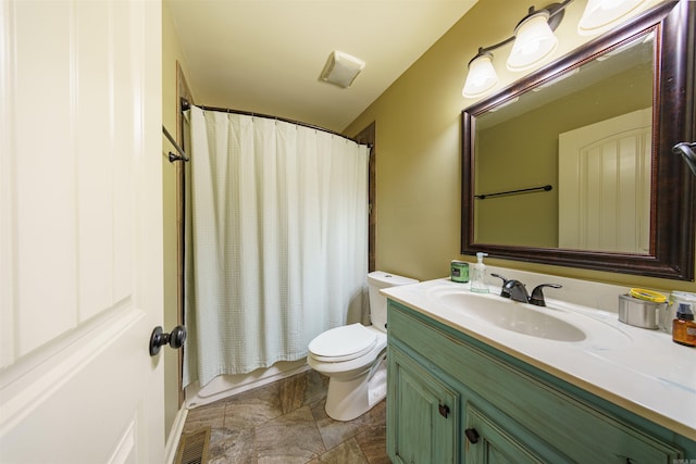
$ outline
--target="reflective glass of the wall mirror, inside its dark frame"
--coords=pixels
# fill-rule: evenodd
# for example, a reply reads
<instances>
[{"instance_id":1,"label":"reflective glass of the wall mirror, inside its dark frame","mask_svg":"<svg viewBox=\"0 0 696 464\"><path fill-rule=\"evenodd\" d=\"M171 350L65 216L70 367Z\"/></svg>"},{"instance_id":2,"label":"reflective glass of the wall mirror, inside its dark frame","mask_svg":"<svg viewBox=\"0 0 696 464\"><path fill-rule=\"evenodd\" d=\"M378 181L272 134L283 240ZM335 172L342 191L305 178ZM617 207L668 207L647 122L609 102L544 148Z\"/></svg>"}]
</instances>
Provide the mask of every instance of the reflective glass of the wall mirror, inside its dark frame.
<instances>
[{"instance_id":1,"label":"reflective glass of the wall mirror, inside its dark frame","mask_svg":"<svg viewBox=\"0 0 696 464\"><path fill-rule=\"evenodd\" d=\"M476 117L476 243L649 251L654 42L642 34Z\"/></svg>"}]
</instances>

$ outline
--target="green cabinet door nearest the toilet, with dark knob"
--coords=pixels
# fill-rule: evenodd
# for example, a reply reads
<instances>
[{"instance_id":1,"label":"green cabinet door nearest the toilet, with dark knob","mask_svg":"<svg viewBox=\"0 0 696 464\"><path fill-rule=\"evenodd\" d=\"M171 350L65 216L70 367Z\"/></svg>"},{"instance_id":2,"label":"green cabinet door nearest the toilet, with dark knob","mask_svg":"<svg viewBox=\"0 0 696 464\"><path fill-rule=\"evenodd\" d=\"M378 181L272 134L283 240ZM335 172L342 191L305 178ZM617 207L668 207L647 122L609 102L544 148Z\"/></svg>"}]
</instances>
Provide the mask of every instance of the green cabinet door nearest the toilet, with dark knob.
<instances>
[{"instance_id":1,"label":"green cabinet door nearest the toilet, with dark knob","mask_svg":"<svg viewBox=\"0 0 696 464\"><path fill-rule=\"evenodd\" d=\"M457 392L418 362L389 347L387 451L394 463L453 463L457 460Z\"/></svg>"}]
</instances>

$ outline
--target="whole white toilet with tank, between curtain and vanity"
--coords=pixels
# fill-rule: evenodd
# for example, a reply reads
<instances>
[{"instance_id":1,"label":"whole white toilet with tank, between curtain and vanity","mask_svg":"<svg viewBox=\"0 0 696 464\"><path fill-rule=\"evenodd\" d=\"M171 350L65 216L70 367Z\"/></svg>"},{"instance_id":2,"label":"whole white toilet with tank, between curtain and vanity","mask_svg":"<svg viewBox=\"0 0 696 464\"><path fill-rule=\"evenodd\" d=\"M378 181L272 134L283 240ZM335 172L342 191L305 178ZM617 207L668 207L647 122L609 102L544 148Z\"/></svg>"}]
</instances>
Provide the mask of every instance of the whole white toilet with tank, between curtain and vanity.
<instances>
[{"instance_id":1,"label":"whole white toilet with tank, between curtain and vanity","mask_svg":"<svg viewBox=\"0 0 696 464\"><path fill-rule=\"evenodd\" d=\"M326 414L352 421L387 394L387 299L381 288L418 280L375 271L368 274L371 326L351 324L320 334L309 343L307 363L328 377Z\"/></svg>"}]
</instances>

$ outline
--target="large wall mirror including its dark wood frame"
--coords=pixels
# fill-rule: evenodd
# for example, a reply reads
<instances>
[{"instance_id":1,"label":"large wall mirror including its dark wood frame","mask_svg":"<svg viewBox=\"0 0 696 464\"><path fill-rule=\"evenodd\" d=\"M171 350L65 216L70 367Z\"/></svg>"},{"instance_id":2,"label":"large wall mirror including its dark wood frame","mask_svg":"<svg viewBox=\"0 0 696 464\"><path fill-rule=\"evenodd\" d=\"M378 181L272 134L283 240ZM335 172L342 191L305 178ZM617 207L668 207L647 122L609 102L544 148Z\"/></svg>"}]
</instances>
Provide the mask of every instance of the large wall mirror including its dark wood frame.
<instances>
[{"instance_id":1,"label":"large wall mirror including its dark wood frame","mask_svg":"<svg viewBox=\"0 0 696 464\"><path fill-rule=\"evenodd\" d=\"M695 16L662 3L463 111L462 253L693 279Z\"/></svg>"}]
</instances>

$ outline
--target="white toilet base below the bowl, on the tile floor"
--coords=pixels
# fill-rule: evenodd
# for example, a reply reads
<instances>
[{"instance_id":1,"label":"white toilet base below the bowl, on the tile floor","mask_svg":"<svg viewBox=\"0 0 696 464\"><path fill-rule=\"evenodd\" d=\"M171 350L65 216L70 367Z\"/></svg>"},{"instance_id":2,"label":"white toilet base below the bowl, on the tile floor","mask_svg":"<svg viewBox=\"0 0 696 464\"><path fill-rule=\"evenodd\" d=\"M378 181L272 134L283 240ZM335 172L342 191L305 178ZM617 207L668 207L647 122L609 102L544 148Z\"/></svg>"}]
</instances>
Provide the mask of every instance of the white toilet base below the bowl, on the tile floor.
<instances>
[{"instance_id":1,"label":"white toilet base below the bowl, on the tile floor","mask_svg":"<svg viewBox=\"0 0 696 464\"><path fill-rule=\"evenodd\" d=\"M382 360L374 372L350 380L330 377L326 392L326 414L334 421L360 417L387 396L387 368Z\"/></svg>"}]
</instances>

